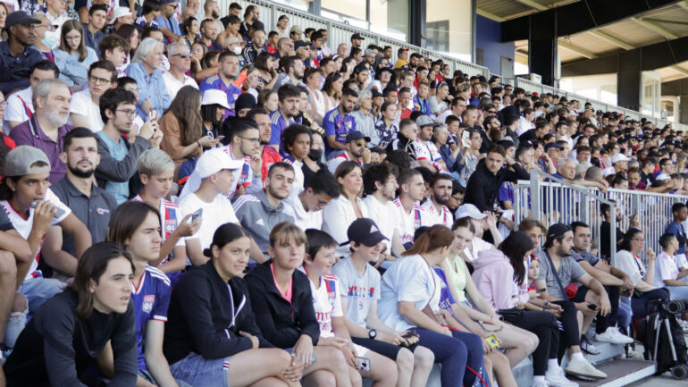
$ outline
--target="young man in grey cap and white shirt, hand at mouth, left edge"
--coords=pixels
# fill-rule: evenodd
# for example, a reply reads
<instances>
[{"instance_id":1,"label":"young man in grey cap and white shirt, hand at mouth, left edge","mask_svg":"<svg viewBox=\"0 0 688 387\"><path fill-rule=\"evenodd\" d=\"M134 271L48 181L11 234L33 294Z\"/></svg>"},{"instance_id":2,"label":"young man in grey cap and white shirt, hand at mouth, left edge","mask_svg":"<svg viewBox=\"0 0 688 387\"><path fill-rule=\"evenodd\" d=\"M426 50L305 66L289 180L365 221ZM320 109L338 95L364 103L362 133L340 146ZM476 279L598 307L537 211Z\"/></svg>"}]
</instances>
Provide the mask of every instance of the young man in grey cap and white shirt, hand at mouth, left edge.
<instances>
[{"instance_id":1,"label":"young man in grey cap and white shirt, hand at mouth, left edge","mask_svg":"<svg viewBox=\"0 0 688 387\"><path fill-rule=\"evenodd\" d=\"M43 278L38 271L38 257L50 226L59 225L74 238L77 256L70 256L70 261L65 263L65 266L69 266L63 268L67 275L76 273L77 258L91 246L91 234L84 223L71 214L71 209L48 188L50 170L46 154L36 147L16 147L4 161L3 184L0 185L0 198L3 200L0 206L3 206L14 229L29 242L30 248L31 259L18 261L16 266L16 278L22 281L19 292L27 299L24 317L33 315L38 307L64 286L58 280Z\"/></svg>"}]
</instances>

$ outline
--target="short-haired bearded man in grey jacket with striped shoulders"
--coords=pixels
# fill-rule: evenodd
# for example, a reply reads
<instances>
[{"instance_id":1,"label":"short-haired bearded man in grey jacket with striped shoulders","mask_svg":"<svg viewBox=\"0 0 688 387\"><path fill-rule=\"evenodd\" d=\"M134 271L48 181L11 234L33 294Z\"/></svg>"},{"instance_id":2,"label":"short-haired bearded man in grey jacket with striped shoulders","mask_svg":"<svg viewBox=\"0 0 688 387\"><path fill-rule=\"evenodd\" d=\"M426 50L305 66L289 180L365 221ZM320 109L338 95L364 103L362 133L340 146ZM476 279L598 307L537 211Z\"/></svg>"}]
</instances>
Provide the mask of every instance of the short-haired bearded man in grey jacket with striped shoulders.
<instances>
[{"instance_id":1,"label":"short-haired bearded man in grey jacket with striped shoulders","mask_svg":"<svg viewBox=\"0 0 688 387\"><path fill-rule=\"evenodd\" d=\"M262 264L267 256L270 231L277 223L294 223L291 206L283 203L289 197L294 183L294 167L287 163L277 163L270 167L265 189L255 195L240 196L233 204L239 223L256 242L251 244L251 260Z\"/></svg>"}]
</instances>

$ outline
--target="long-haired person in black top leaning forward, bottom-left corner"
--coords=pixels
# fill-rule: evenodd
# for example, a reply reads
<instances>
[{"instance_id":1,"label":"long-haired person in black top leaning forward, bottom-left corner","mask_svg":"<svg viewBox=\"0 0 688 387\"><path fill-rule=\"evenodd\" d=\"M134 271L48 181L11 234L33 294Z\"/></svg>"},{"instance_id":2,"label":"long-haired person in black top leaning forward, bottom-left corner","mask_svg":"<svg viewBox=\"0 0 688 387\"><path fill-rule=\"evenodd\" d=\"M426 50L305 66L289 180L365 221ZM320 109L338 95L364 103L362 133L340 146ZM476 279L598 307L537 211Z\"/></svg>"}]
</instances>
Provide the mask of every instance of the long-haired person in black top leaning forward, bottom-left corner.
<instances>
[{"instance_id":1,"label":"long-haired person in black top leaning forward, bottom-left corner","mask_svg":"<svg viewBox=\"0 0 688 387\"><path fill-rule=\"evenodd\" d=\"M109 386L136 383L136 332L128 252L96 243L79 260L74 281L38 309L4 364L10 386L86 386L87 369L110 341Z\"/></svg>"}]
</instances>

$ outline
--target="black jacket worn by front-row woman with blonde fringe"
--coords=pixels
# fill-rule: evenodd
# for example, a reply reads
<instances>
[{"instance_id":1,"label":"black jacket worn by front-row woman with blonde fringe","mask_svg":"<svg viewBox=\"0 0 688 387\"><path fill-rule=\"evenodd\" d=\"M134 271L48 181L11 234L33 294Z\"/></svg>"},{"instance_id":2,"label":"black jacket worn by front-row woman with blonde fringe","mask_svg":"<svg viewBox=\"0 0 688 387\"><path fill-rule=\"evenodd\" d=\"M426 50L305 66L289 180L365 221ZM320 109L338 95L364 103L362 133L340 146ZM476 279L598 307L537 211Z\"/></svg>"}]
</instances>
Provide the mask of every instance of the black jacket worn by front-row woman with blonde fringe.
<instances>
[{"instance_id":1,"label":"black jacket worn by front-row woman with blonde fringe","mask_svg":"<svg viewBox=\"0 0 688 387\"><path fill-rule=\"evenodd\" d=\"M269 260L257 265L246 276L258 327L267 341L283 349L293 347L302 334L309 335L313 345L317 344L320 325L315 319L308 277L298 270L294 272L289 304L274 284L272 263Z\"/></svg>"}]
</instances>

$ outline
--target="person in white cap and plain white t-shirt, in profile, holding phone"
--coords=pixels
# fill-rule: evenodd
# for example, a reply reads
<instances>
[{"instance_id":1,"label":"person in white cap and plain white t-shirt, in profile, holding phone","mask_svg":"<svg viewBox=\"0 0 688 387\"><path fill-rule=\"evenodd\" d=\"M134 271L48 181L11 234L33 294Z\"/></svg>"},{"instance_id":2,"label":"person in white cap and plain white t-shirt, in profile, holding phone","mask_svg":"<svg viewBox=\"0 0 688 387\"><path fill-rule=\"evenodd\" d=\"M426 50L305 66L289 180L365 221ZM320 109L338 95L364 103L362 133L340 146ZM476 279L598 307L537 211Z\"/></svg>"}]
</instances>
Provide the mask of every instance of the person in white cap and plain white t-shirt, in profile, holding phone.
<instances>
[{"instance_id":1,"label":"person in white cap and plain white t-shirt, in profile, holding phone","mask_svg":"<svg viewBox=\"0 0 688 387\"><path fill-rule=\"evenodd\" d=\"M203 249L210 248L218 227L224 223L239 223L226 196L235 186L234 172L243 164L242 160L227 157L220 148L210 149L198 158L192 175L200 180L200 186L180 201L182 217L200 211L203 219L198 231L186 240L187 255L194 265L207 261Z\"/></svg>"}]
</instances>

